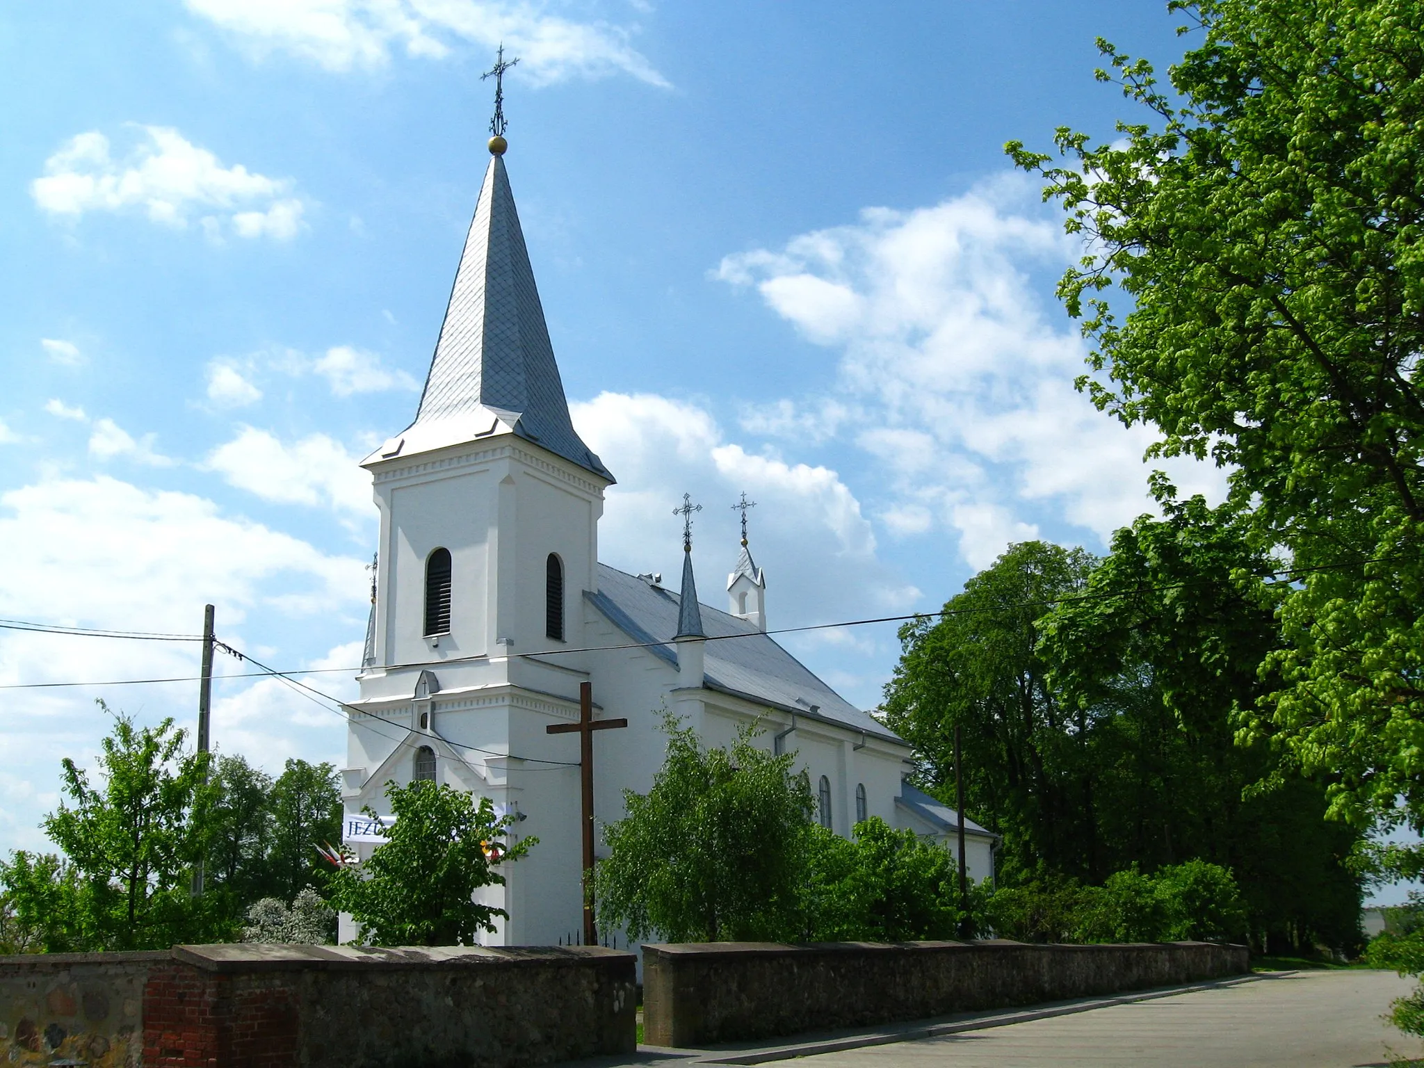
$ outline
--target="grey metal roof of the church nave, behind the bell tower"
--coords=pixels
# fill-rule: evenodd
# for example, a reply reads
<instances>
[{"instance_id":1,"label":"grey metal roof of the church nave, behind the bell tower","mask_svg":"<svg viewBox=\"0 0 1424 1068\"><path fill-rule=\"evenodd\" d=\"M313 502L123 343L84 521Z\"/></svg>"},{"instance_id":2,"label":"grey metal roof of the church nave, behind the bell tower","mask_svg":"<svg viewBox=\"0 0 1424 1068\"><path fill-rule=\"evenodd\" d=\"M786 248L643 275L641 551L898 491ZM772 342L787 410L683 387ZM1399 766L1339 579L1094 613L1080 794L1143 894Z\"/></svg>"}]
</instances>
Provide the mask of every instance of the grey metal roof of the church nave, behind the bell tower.
<instances>
[{"instance_id":1,"label":"grey metal roof of the church nave, behind the bell tower","mask_svg":"<svg viewBox=\"0 0 1424 1068\"><path fill-rule=\"evenodd\" d=\"M676 665L671 642L681 614L678 594L600 564L598 592L585 591L584 597L634 641L668 642L651 645L648 651ZM702 629L709 639L703 646L705 685L709 689L904 745L890 728L840 696L769 635L711 605L699 608ZM812 711L812 706L816 709Z\"/></svg>"}]
</instances>

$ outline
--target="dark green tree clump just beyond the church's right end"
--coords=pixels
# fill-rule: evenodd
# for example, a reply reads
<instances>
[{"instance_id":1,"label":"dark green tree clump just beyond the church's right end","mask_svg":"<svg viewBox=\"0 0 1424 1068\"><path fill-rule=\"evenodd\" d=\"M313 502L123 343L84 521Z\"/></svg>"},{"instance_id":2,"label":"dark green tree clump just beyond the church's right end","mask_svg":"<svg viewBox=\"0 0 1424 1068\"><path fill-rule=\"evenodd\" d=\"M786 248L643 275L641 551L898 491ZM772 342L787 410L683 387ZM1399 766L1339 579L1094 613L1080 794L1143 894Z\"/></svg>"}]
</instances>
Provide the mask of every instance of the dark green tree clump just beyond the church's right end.
<instances>
[{"instance_id":1,"label":"dark green tree clump just beyond the church's right end","mask_svg":"<svg viewBox=\"0 0 1424 1068\"><path fill-rule=\"evenodd\" d=\"M1165 517L1118 531L1105 558L1014 545L938 622L906 628L889 722L944 796L960 726L968 812L1004 836L1000 879L1045 887L1048 913L1081 913L1064 903L1078 883L1200 859L1236 873L1257 943L1350 946L1358 834L1326 823L1319 782L1233 740L1272 685L1273 564L1229 508L1158 491Z\"/></svg>"}]
</instances>

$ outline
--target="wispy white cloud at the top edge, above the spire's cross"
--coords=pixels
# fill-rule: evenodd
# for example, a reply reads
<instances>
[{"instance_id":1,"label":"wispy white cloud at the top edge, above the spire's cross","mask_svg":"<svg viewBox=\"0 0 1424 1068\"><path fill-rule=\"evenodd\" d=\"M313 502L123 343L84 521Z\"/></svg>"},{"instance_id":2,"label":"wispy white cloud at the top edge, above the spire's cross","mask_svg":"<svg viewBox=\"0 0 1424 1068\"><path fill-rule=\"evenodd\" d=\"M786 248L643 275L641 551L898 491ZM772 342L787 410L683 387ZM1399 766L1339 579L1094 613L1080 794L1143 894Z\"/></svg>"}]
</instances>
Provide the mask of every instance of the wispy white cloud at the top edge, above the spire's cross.
<instances>
[{"instance_id":1,"label":"wispy white cloud at the top edge, above the spire's cross","mask_svg":"<svg viewBox=\"0 0 1424 1068\"><path fill-rule=\"evenodd\" d=\"M332 71L379 67L392 48L441 58L456 43L520 57L534 84L628 74L668 81L631 44L632 30L551 14L518 0L185 0L258 54L282 50Z\"/></svg>"}]
</instances>

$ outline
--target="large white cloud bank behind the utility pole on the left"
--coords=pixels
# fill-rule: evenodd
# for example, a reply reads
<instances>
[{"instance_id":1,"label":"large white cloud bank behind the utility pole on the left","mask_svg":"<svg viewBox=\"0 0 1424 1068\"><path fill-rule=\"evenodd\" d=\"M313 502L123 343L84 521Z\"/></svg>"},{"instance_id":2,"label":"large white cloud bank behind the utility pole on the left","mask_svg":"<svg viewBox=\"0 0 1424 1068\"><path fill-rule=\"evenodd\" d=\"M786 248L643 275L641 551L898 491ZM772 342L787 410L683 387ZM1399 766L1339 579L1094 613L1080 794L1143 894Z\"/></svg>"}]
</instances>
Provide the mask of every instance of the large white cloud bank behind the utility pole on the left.
<instances>
[{"instance_id":1,"label":"large white cloud bank behind the utility pole on the left","mask_svg":"<svg viewBox=\"0 0 1424 1068\"><path fill-rule=\"evenodd\" d=\"M359 634L363 621L362 560L329 555L299 538L228 517L212 501L187 493L145 490L103 476L40 481L0 496L0 544L6 547L0 615L9 618L194 634L209 602L218 609L219 635L238 648L258 645L246 639L245 627L272 642L282 641L278 635L286 625L302 637L320 628ZM332 649L330 656L345 648ZM359 652L340 665L357 662ZM110 726L94 696L105 696L145 723L175 715L191 728L197 684L188 679L197 664L194 642L0 632L0 682L6 685L185 679L0 691L6 849L46 847L36 824L57 802L60 759L93 766L98 739ZM275 664L305 666L295 656ZM219 675L244 671L251 666L219 658ZM340 676L318 678L322 689L333 692L350 685ZM225 709L239 685L251 684L219 681L215 709ZM283 756L337 758L340 722L336 716L326 721L316 728L273 701L266 722L252 718L232 725L219 712L214 736L225 752L249 752L266 759L269 770L281 770Z\"/></svg>"}]
</instances>

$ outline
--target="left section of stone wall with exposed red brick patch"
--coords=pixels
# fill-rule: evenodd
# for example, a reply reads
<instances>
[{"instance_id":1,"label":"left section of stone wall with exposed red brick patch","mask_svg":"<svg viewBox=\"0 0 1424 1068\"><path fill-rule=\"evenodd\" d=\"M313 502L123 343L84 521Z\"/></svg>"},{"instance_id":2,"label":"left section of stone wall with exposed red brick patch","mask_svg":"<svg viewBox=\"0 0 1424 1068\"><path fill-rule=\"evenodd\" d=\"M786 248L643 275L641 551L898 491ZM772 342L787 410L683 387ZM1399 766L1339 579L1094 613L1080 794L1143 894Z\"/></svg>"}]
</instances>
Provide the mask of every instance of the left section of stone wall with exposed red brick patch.
<instances>
[{"instance_id":1,"label":"left section of stone wall with exposed red brick patch","mask_svg":"<svg viewBox=\"0 0 1424 1068\"><path fill-rule=\"evenodd\" d=\"M632 1052L634 1014L634 957L601 947L0 957L20 1068L517 1068Z\"/></svg>"}]
</instances>

